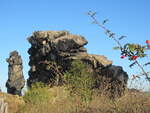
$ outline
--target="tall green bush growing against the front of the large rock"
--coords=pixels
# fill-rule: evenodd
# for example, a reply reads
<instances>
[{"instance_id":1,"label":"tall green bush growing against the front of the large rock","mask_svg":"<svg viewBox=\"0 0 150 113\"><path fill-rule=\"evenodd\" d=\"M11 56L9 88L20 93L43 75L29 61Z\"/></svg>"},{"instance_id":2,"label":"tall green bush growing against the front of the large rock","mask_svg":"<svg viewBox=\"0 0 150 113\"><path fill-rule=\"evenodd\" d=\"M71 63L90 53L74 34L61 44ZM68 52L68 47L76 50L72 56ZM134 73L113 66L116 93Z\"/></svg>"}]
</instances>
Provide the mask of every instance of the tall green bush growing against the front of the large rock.
<instances>
[{"instance_id":1,"label":"tall green bush growing against the front of the large rock","mask_svg":"<svg viewBox=\"0 0 150 113\"><path fill-rule=\"evenodd\" d=\"M67 89L71 94L81 97L82 101L89 102L92 99L92 87L94 84L93 72L88 64L82 61L74 61L69 71L64 75Z\"/></svg>"}]
</instances>

